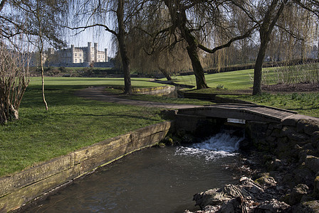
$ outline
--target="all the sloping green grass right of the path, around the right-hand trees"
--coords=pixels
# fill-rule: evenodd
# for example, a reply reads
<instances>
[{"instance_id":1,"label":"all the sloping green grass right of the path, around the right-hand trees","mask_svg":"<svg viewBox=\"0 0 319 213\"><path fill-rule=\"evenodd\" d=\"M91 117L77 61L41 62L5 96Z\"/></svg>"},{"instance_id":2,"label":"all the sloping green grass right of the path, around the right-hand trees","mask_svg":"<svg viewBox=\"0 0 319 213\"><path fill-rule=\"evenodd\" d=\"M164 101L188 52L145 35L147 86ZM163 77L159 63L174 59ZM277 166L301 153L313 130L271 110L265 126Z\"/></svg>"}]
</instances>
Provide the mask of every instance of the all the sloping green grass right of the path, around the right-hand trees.
<instances>
[{"instance_id":1,"label":"all the sloping green grass right of the path, around the right-hand trees","mask_svg":"<svg viewBox=\"0 0 319 213\"><path fill-rule=\"evenodd\" d=\"M316 77L318 70L314 72L314 65L298 65L289 70L287 67L272 67L263 69L263 82L265 84L275 84L278 81L291 81L291 77L296 80L304 80L305 76ZM304 69L300 71L300 69ZM286 70L283 72L282 70ZM288 75L290 72L290 75ZM280 76L280 78L278 78ZM278 107L298 111L299 114L319 117L319 93L318 92L278 92L276 94L263 92L258 96L252 96L253 70L240 70L234 72L220 72L205 75L209 89L187 89L187 92L199 92L207 94L219 94L220 97L241 99L247 102ZM288 81L287 80L287 81ZM174 81L179 84L196 85L194 75L177 76ZM222 89L217 89L222 88ZM225 89L226 88L226 89ZM232 95L233 94L233 95ZM236 94L236 95L234 95ZM238 95L241 94L241 95Z\"/></svg>"}]
</instances>

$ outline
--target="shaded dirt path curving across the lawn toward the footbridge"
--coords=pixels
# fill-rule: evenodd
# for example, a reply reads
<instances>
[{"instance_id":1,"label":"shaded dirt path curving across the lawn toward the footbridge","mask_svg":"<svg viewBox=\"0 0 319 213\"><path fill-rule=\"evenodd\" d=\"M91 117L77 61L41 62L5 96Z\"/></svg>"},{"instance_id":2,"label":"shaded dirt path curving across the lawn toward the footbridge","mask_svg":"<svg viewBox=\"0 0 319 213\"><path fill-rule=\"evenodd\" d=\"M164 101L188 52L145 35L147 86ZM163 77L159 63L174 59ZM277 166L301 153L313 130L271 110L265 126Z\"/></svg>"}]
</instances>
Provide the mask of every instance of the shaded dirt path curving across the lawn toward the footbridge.
<instances>
[{"instance_id":1,"label":"shaded dirt path curving across the lawn toward the footbridge","mask_svg":"<svg viewBox=\"0 0 319 213\"><path fill-rule=\"evenodd\" d=\"M122 99L117 97L115 94L109 94L105 92L105 87L88 87L85 89L78 90L75 92L75 95L78 97L83 97L85 99L93 99L101 102L111 102L117 104L129 104L141 107L159 107L165 109L186 109L192 107L202 107L199 105L192 104L167 104L160 102L144 102L130 99Z\"/></svg>"}]
</instances>

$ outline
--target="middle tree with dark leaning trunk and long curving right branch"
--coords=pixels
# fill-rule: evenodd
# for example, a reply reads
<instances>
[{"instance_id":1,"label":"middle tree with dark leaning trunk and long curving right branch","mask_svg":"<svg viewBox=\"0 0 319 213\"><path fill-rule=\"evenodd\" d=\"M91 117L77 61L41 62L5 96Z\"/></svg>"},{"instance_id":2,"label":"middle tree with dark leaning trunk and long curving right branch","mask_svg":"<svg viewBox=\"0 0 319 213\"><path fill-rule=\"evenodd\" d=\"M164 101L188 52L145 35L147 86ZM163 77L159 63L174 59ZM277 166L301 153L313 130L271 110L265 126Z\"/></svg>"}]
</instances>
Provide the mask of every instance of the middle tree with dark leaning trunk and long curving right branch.
<instances>
[{"instance_id":1,"label":"middle tree with dark leaning trunk and long curving right branch","mask_svg":"<svg viewBox=\"0 0 319 213\"><path fill-rule=\"evenodd\" d=\"M155 8L147 14L147 21L153 21L154 14L167 14L162 24L158 24L156 31L149 32L153 43L167 43L174 48L176 43L183 40L192 70L194 71L197 89L208 88L204 77L201 58L204 53L214 54L228 48L231 43L249 37L253 26L244 34L235 31L236 28L229 20L229 8L221 1L150 1ZM223 2L225 3L225 2ZM223 33L225 43L214 43L211 36ZM225 36L224 33L227 35Z\"/></svg>"}]
</instances>

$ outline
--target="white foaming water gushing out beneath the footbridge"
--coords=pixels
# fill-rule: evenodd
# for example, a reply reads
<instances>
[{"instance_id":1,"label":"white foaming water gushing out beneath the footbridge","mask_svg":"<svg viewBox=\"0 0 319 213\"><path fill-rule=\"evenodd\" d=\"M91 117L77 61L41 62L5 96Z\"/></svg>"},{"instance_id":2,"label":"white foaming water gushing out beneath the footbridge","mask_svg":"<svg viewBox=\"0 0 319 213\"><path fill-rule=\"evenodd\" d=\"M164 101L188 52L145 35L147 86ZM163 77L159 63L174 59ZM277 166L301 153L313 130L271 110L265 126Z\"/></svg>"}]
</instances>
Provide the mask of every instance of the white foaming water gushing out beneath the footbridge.
<instances>
[{"instance_id":1,"label":"white foaming water gushing out beneath the footbridge","mask_svg":"<svg viewBox=\"0 0 319 213\"><path fill-rule=\"evenodd\" d=\"M189 147L179 146L176 154L204 156L206 160L236 155L236 151L239 150L239 142L243 138L234 136L231 133L231 131L222 131L201 143L194 143Z\"/></svg>"}]
</instances>

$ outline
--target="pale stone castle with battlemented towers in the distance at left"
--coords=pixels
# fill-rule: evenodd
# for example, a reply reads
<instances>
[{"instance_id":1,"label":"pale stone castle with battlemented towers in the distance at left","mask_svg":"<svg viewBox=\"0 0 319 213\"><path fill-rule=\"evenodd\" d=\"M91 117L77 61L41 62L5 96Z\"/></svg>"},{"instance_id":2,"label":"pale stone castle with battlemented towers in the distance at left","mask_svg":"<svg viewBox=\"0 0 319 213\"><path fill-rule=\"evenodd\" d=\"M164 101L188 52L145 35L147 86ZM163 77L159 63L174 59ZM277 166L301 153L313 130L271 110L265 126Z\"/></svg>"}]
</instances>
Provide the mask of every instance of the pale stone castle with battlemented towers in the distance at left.
<instances>
[{"instance_id":1,"label":"pale stone castle with battlemented towers in the distance at left","mask_svg":"<svg viewBox=\"0 0 319 213\"><path fill-rule=\"evenodd\" d=\"M90 42L87 47L71 45L62 50L48 48L46 64L53 67L89 67L92 64L94 67L112 67L108 62L108 49L99 51L98 43L92 46Z\"/></svg>"}]
</instances>

